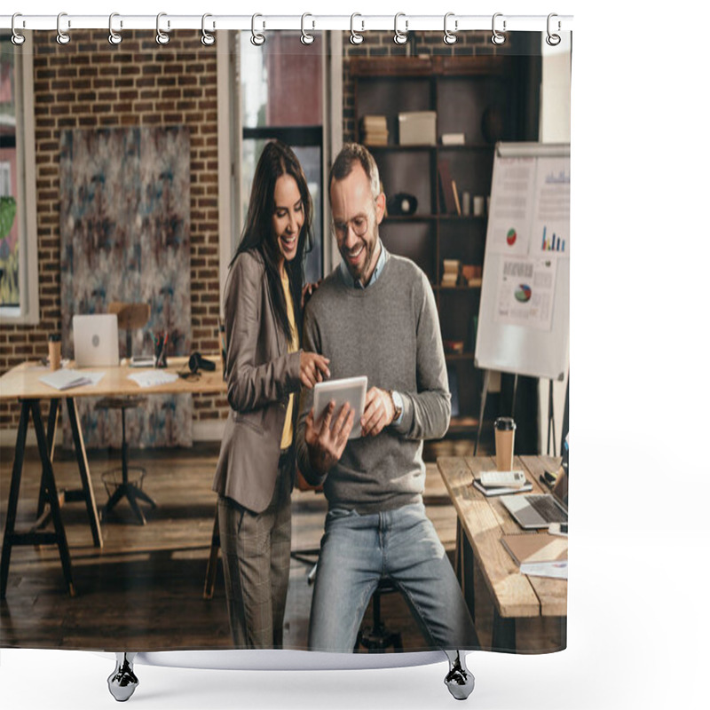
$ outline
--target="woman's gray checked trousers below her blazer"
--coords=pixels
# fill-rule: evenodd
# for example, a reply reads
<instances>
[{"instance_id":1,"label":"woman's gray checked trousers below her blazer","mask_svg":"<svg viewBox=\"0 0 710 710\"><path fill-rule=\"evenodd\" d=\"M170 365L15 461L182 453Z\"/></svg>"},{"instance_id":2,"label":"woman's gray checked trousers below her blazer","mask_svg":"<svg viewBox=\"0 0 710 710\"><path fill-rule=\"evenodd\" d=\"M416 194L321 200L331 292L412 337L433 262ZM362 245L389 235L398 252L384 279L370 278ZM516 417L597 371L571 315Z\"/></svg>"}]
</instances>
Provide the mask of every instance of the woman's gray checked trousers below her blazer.
<instances>
[{"instance_id":1,"label":"woman's gray checked trousers below her blazer","mask_svg":"<svg viewBox=\"0 0 710 710\"><path fill-rule=\"evenodd\" d=\"M236 648L283 645L294 465L293 455L281 456L272 501L263 513L254 513L231 498L219 498L219 540Z\"/></svg>"}]
</instances>

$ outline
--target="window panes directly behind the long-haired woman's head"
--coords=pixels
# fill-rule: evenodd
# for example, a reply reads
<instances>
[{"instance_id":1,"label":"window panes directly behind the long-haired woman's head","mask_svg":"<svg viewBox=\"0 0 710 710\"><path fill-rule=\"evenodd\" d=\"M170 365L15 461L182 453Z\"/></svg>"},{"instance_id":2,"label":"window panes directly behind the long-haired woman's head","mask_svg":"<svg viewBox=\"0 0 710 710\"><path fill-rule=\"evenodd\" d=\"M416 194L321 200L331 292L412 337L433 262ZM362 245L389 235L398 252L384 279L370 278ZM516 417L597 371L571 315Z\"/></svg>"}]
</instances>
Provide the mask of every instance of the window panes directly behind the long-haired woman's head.
<instances>
[{"instance_id":1,"label":"window panes directly behind the long-haired woman's head","mask_svg":"<svg viewBox=\"0 0 710 710\"><path fill-rule=\"evenodd\" d=\"M322 34L317 36L320 46ZM250 33L238 40L241 99L241 216L264 144L279 138L293 148L313 200L313 248L305 278L323 275L323 54L304 46L300 32L278 32L255 47Z\"/></svg>"}]
</instances>

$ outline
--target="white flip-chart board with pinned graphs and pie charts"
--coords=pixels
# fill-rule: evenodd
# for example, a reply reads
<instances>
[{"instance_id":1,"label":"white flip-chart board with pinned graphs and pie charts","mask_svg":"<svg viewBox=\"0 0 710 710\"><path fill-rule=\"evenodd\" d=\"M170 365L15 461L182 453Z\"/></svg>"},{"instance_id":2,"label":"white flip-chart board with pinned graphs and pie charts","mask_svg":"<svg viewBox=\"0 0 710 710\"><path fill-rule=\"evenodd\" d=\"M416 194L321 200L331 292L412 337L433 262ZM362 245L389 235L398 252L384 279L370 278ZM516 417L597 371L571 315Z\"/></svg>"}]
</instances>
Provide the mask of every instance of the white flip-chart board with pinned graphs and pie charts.
<instances>
[{"instance_id":1,"label":"white flip-chart board with pinned graphs and pie charts","mask_svg":"<svg viewBox=\"0 0 710 710\"><path fill-rule=\"evenodd\" d=\"M499 143L476 367L563 380L570 342L570 146Z\"/></svg>"}]
</instances>

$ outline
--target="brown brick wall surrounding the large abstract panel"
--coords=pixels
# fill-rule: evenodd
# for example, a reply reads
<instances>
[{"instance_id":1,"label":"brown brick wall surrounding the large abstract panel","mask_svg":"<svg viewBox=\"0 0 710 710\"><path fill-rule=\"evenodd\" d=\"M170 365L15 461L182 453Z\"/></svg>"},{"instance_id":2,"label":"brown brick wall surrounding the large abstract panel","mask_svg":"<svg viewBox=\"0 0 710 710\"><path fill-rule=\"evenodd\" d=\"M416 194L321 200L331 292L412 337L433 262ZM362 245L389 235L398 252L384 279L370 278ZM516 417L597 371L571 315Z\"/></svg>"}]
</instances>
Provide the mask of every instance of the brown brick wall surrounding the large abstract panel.
<instances>
[{"instance_id":1,"label":"brown brick wall surrounding the large abstract panel","mask_svg":"<svg viewBox=\"0 0 710 710\"><path fill-rule=\"evenodd\" d=\"M217 351L217 53L199 33L175 31L159 46L145 31L75 30L59 46L51 32L35 43L36 189L40 323L0 327L0 372L46 354L60 327L59 136L62 130L185 125L190 130L192 342ZM224 398L196 397L194 420L226 414ZM0 404L0 429L17 425L17 406Z\"/></svg>"}]
</instances>

